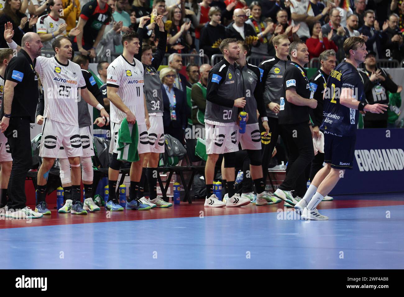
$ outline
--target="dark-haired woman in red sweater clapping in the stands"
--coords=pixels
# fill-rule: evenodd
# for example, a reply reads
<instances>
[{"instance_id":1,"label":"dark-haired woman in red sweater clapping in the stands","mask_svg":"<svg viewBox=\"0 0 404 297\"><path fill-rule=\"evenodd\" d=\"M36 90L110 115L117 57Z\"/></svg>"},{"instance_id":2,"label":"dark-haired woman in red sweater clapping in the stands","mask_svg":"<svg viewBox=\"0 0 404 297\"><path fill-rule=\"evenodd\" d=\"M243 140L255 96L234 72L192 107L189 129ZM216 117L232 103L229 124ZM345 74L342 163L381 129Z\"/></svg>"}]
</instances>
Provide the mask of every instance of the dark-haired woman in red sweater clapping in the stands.
<instances>
[{"instance_id":1,"label":"dark-haired woman in red sweater clapping in the stands","mask_svg":"<svg viewBox=\"0 0 404 297\"><path fill-rule=\"evenodd\" d=\"M311 31L311 38L306 40L307 49L309 51L309 60L319 57L323 51L328 49L333 49L336 52L338 51L338 47L335 45L334 41L331 40L332 31L328 33L327 37L323 37L320 21L314 23Z\"/></svg>"}]
</instances>

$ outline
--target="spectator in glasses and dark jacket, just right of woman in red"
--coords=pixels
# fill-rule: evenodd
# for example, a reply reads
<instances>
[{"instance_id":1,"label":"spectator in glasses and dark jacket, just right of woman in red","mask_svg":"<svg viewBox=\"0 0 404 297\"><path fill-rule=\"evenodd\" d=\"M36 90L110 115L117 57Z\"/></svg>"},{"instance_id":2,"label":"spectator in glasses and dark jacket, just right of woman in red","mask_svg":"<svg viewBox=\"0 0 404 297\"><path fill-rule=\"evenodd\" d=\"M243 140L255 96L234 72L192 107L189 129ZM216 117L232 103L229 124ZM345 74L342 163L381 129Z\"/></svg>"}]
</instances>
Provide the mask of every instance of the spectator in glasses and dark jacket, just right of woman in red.
<instances>
[{"instance_id":1,"label":"spectator in glasses and dark jacket, just right of woman in red","mask_svg":"<svg viewBox=\"0 0 404 297\"><path fill-rule=\"evenodd\" d=\"M348 29L346 27L341 26L341 16L339 15L338 8L332 8L330 11L330 22L321 27L321 32L323 36L328 36L328 34L332 31L331 40L337 45L337 60L341 61L345 58L344 53L344 41L348 38Z\"/></svg>"}]
</instances>

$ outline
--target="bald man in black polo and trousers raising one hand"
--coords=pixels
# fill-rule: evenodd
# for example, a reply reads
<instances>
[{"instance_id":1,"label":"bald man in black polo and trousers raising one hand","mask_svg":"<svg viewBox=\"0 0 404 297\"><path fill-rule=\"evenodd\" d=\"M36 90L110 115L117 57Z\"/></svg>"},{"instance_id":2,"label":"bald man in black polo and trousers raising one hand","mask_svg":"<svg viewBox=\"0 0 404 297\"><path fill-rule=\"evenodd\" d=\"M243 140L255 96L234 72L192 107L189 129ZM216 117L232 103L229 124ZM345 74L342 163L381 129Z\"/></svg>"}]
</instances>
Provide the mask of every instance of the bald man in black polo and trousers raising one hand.
<instances>
[{"instance_id":1,"label":"bald man in black polo and trousers raising one hand","mask_svg":"<svg viewBox=\"0 0 404 297\"><path fill-rule=\"evenodd\" d=\"M11 40L13 28L8 23L4 36L10 47L17 45ZM19 54L8 63L4 74L1 132L6 135L13 156L8 182L11 209L5 216L11 219L36 219L42 217L26 206L25 178L32 167L30 123L35 122L38 103L38 77L35 72L36 57L40 56L42 42L38 34L29 32L21 41Z\"/></svg>"}]
</instances>

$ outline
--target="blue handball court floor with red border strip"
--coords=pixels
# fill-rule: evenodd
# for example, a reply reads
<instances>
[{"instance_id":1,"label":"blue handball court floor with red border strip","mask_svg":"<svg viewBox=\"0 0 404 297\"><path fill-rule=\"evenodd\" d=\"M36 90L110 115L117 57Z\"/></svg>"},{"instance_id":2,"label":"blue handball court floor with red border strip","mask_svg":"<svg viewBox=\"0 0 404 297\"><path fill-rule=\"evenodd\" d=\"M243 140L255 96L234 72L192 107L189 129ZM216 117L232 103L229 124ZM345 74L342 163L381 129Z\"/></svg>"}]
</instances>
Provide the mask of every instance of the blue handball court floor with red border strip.
<instances>
[{"instance_id":1,"label":"blue handball court floor with red border strip","mask_svg":"<svg viewBox=\"0 0 404 297\"><path fill-rule=\"evenodd\" d=\"M334 196L303 221L269 206L0 219L3 269L402 269L404 193ZM34 206L31 206L34 207ZM203 213L202 213L203 212Z\"/></svg>"}]
</instances>

